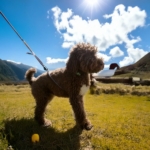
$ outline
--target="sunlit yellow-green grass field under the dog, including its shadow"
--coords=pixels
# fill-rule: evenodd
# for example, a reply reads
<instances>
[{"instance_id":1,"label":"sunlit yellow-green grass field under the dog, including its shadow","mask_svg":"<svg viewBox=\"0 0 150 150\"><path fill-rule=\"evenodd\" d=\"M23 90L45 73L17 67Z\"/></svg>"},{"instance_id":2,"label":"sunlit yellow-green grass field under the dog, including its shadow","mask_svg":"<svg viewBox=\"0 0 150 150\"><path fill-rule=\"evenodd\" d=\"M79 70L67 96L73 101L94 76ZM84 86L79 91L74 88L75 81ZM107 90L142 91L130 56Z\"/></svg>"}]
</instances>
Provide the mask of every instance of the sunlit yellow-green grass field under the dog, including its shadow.
<instances>
[{"instance_id":1,"label":"sunlit yellow-green grass field under the dog, including its shadow","mask_svg":"<svg viewBox=\"0 0 150 150\"><path fill-rule=\"evenodd\" d=\"M68 99L54 98L46 111L53 126L43 128L33 120L35 102L29 86L0 85L0 150L149 150L150 96L131 91L150 91L149 87L101 86L117 92L85 95L94 128L81 131ZM128 92L119 94L121 89ZM39 134L38 143L31 142L33 133Z\"/></svg>"}]
</instances>

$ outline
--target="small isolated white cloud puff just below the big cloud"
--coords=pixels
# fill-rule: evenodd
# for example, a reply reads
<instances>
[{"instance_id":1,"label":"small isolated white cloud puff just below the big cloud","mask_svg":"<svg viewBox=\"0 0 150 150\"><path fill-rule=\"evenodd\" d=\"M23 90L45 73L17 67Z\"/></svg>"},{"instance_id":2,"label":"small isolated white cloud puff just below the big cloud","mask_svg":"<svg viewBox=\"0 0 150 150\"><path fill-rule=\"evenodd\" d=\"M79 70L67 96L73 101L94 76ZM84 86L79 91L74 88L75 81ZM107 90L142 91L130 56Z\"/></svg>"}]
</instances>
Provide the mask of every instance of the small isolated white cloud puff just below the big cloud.
<instances>
[{"instance_id":1,"label":"small isolated white cloud puff just below the big cloud","mask_svg":"<svg viewBox=\"0 0 150 150\"><path fill-rule=\"evenodd\" d=\"M120 57L124 55L124 52L116 46L110 50L109 54L112 55L112 57Z\"/></svg>"}]
</instances>

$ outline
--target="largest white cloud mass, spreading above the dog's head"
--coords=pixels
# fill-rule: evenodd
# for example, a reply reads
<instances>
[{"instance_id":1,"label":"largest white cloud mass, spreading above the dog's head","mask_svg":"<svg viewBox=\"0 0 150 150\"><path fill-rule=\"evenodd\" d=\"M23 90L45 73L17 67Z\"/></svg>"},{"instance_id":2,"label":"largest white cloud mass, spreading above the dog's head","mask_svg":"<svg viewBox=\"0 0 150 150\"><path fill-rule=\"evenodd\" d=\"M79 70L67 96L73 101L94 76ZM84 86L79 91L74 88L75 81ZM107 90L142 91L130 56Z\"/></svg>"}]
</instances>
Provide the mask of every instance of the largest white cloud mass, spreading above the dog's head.
<instances>
[{"instance_id":1,"label":"largest white cloud mass, spreading above the dog's head","mask_svg":"<svg viewBox=\"0 0 150 150\"><path fill-rule=\"evenodd\" d=\"M125 10L124 5L115 7L112 14L104 15L105 19L110 18L111 22L104 24L98 19L84 20L78 15L73 15L71 9L62 12L59 7L52 8L54 24L57 31L61 33L64 39L63 47L69 48L71 44L78 42L89 42L98 47L99 50L105 51L110 46L126 43L134 44L140 40L140 37L129 39L128 34L137 27L144 26L146 13L139 7L128 7ZM66 45L66 46L64 46Z\"/></svg>"}]
</instances>

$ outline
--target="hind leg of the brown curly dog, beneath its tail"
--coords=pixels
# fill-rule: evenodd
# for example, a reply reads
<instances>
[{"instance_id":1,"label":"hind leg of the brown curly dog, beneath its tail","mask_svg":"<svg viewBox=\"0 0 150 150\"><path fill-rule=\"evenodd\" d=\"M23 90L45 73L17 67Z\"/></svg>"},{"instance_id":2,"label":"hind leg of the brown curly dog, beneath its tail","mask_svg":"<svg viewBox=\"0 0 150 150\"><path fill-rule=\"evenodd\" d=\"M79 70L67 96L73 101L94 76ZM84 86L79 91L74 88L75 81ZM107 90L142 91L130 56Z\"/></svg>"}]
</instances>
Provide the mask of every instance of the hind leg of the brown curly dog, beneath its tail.
<instances>
[{"instance_id":1,"label":"hind leg of the brown curly dog, beneath its tail","mask_svg":"<svg viewBox=\"0 0 150 150\"><path fill-rule=\"evenodd\" d=\"M48 127L51 126L51 121L44 117L45 109L47 104L52 100L53 95L47 97L38 97L36 98L36 107L35 107L35 120L42 126Z\"/></svg>"}]
</instances>

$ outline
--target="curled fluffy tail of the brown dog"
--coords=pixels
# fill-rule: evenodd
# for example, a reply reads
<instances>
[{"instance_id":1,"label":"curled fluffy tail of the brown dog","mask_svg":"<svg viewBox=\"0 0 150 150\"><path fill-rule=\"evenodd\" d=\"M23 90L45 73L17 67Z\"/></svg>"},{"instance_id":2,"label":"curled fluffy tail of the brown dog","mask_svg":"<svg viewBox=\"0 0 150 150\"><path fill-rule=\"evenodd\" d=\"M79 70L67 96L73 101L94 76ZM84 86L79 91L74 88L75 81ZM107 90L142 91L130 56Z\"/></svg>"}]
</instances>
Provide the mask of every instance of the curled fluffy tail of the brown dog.
<instances>
[{"instance_id":1,"label":"curled fluffy tail of the brown dog","mask_svg":"<svg viewBox=\"0 0 150 150\"><path fill-rule=\"evenodd\" d=\"M31 85L33 80L34 80L34 73L36 73L36 69L35 68L30 68L29 70L27 70L26 74L25 74L25 78L28 80L29 84Z\"/></svg>"}]
</instances>

